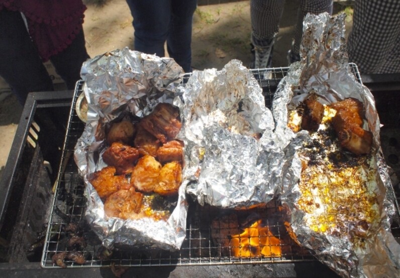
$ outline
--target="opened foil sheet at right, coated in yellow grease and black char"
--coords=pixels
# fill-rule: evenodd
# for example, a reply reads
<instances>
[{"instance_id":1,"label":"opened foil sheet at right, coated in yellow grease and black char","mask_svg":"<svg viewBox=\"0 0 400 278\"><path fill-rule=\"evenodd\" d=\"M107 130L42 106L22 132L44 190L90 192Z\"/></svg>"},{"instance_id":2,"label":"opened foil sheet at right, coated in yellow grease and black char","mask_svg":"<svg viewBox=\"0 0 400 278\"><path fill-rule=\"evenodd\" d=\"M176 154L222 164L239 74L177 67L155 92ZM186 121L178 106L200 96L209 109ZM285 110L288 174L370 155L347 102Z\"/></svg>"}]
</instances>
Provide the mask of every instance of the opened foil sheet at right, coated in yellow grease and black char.
<instances>
[{"instance_id":1,"label":"opened foil sheet at right, coated in yellow grease and black char","mask_svg":"<svg viewBox=\"0 0 400 278\"><path fill-rule=\"evenodd\" d=\"M386 194L391 184L379 118L371 92L349 69L344 19L328 14L305 18L302 60L290 66L274 95L275 133L286 161L280 200L291 237L341 276L398 277L400 247L390 233L394 206ZM347 154L336 147L338 142L321 136L324 132L288 128L293 122L289 115L311 92L324 105L346 98L362 102L363 128L373 134L369 155L344 159ZM341 165L342 159L354 164Z\"/></svg>"}]
</instances>

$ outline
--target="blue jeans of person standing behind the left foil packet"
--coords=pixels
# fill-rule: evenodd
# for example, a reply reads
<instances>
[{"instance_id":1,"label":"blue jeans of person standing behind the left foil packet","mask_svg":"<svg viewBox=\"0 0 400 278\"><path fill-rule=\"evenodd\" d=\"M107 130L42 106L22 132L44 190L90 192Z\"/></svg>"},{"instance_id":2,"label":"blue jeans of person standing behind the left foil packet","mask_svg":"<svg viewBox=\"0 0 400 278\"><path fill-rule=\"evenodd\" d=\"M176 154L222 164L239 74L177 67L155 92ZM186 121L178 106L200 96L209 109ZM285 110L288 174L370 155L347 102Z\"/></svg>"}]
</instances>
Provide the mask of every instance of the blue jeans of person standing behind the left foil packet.
<instances>
[{"instance_id":1,"label":"blue jeans of person standing behind the left foil packet","mask_svg":"<svg viewBox=\"0 0 400 278\"><path fill-rule=\"evenodd\" d=\"M197 0L127 0L133 17L135 50L164 57L167 51L191 71L191 31Z\"/></svg>"}]
</instances>

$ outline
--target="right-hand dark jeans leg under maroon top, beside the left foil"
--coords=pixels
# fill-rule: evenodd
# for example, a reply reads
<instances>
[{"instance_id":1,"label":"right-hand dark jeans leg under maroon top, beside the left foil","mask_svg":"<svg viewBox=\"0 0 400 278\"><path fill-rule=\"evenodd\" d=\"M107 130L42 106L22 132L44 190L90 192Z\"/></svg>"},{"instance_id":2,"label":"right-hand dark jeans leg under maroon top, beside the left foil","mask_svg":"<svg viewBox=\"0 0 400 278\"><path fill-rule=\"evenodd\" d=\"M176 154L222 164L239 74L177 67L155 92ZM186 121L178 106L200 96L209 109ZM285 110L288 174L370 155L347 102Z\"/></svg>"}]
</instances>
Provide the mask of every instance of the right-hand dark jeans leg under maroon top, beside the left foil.
<instances>
[{"instance_id":1,"label":"right-hand dark jeans leg under maroon top, beside the left foil","mask_svg":"<svg viewBox=\"0 0 400 278\"><path fill-rule=\"evenodd\" d=\"M89 58L85 47L83 30L79 32L72 43L62 52L50 57L56 72L65 81L68 89L74 89L80 79L82 63Z\"/></svg>"}]
</instances>

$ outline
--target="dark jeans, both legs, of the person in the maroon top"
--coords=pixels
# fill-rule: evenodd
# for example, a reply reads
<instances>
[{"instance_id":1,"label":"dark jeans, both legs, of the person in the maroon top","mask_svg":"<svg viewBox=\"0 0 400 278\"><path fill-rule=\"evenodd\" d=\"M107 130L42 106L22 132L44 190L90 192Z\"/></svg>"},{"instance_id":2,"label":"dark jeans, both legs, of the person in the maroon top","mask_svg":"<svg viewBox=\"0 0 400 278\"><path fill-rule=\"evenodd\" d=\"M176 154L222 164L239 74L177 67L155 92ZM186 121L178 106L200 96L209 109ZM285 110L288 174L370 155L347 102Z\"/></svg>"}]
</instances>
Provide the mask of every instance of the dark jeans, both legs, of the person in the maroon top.
<instances>
[{"instance_id":1,"label":"dark jeans, both legs, of the person in the maroon top","mask_svg":"<svg viewBox=\"0 0 400 278\"><path fill-rule=\"evenodd\" d=\"M51 56L50 61L67 88L74 89L87 58L82 30L66 49ZM21 105L31 91L54 90L21 13L5 9L0 11L0 76L11 86Z\"/></svg>"}]
</instances>

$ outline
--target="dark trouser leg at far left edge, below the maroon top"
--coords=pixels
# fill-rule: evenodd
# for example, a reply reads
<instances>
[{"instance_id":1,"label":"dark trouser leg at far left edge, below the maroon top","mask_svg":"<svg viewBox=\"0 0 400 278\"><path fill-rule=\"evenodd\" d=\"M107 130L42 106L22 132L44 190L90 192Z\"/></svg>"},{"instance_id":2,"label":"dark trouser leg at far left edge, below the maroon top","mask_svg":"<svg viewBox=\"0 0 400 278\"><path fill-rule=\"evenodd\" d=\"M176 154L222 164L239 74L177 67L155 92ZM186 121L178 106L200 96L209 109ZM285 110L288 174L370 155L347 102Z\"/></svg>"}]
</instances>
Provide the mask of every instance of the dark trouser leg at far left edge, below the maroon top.
<instances>
[{"instance_id":1,"label":"dark trouser leg at far left edge, below the maroon top","mask_svg":"<svg viewBox=\"0 0 400 278\"><path fill-rule=\"evenodd\" d=\"M0 11L0 75L21 105L31 91L53 90L53 83L19 12Z\"/></svg>"}]
</instances>

